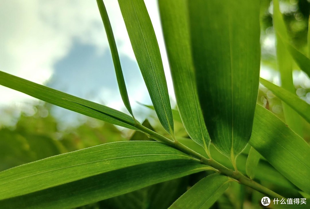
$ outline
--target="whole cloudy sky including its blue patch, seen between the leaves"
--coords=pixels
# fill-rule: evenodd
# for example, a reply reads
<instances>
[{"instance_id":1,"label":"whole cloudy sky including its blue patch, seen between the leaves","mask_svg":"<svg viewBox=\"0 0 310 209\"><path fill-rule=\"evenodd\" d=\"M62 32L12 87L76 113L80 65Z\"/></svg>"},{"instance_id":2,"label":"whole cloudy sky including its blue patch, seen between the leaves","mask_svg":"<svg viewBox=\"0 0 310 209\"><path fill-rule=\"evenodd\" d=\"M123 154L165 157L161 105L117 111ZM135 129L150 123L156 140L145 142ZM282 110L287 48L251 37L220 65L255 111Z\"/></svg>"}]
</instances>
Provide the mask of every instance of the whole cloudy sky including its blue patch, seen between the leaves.
<instances>
[{"instance_id":1,"label":"whole cloudy sky including its blue patch, seen between the leaves","mask_svg":"<svg viewBox=\"0 0 310 209\"><path fill-rule=\"evenodd\" d=\"M118 3L116 0L104 0L104 3L116 38L131 104L134 112L143 118L143 107L137 101L150 104L150 99ZM145 3L158 39L174 104L157 1L147 0ZM2 71L126 112L95 0L1 0L0 14ZM272 37L267 37L262 43L264 47L274 47ZM277 73L270 72L262 68L261 76L277 82ZM298 78L299 74L295 77ZM29 104L38 103L30 96L2 86L0 95L0 109L12 107L21 110ZM60 120L73 120L77 115L60 108L54 108L52 112ZM11 118L5 117L3 110L0 114L2 123L11 123Z\"/></svg>"}]
</instances>

